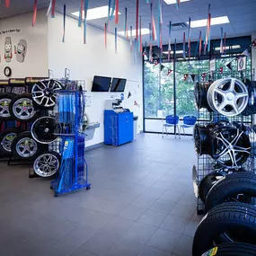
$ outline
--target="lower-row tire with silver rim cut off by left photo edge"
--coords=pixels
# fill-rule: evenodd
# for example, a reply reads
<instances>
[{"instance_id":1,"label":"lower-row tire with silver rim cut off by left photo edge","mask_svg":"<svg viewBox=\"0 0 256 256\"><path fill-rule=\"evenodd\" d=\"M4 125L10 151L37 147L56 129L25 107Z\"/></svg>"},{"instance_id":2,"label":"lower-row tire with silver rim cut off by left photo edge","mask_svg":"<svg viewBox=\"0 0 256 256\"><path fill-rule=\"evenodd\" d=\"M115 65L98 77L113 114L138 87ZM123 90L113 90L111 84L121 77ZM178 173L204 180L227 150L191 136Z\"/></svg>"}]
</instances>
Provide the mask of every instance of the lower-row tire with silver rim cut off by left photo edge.
<instances>
[{"instance_id":1,"label":"lower-row tire with silver rim cut off by left photo edge","mask_svg":"<svg viewBox=\"0 0 256 256\"><path fill-rule=\"evenodd\" d=\"M6 128L0 132L0 153L4 155L12 154L12 143L20 131L17 128Z\"/></svg>"}]
</instances>

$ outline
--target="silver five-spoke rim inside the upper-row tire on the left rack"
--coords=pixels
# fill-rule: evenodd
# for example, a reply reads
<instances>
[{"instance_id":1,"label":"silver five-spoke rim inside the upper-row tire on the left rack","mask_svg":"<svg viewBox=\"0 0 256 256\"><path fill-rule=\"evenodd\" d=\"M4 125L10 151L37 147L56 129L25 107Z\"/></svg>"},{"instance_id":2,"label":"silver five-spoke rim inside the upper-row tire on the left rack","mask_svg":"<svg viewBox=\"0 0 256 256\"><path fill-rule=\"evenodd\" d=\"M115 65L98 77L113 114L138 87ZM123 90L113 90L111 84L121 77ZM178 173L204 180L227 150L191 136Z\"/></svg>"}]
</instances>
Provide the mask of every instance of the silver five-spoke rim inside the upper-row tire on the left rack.
<instances>
[{"instance_id":1,"label":"silver five-spoke rim inside the upper-row tire on the left rack","mask_svg":"<svg viewBox=\"0 0 256 256\"><path fill-rule=\"evenodd\" d=\"M36 114L36 110L34 109L31 99L21 98L14 102L13 114L18 119L31 119Z\"/></svg>"}]
</instances>

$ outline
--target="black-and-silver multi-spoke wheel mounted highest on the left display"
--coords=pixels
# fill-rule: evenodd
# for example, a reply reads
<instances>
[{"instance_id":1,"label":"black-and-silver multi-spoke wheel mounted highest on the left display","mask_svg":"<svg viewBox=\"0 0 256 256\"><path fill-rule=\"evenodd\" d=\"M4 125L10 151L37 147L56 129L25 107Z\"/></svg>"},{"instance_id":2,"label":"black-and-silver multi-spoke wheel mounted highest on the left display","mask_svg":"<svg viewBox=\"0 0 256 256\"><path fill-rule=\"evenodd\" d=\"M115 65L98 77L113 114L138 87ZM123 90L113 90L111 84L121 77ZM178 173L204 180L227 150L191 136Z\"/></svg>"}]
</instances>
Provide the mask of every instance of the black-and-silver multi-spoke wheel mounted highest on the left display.
<instances>
[{"instance_id":1,"label":"black-and-silver multi-spoke wheel mounted highest on the left display","mask_svg":"<svg viewBox=\"0 0 256 256\"><path fill-rule=\"evenodd\" d=\"M40 108L49 109L55 106L56 92L64 89L57 80L42 80L34 84L31 90L33 102Z\"/></svg>"}]
</instances>

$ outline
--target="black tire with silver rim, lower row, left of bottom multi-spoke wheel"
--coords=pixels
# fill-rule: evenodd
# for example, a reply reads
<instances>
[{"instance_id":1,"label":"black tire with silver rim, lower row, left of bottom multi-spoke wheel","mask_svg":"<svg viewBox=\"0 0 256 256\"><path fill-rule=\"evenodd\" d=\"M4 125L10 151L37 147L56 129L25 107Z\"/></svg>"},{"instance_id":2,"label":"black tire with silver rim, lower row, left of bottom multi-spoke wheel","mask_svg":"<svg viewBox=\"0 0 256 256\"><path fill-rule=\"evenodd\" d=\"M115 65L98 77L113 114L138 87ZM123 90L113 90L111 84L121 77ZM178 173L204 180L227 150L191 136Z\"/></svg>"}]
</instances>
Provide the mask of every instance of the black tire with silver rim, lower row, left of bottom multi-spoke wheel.
<instances>
[{"instance_id":1,"label":"black tire with silver rim, lower row, left of bottom multi-spoke wheel","mask_svg":"<svg viewBox=\"0 0 256 256\"><path fill-rule=\"evenodd\" d=\"M22 154L22 148L27 147L27 149ZM31 136L30 131L25 131L19 134L13 139L12 143L12 153L13 156L23 159L23 160L34 160L38 155L47 150L47 145L41 145L36 142Z\"/></svg>"}]
</instances>

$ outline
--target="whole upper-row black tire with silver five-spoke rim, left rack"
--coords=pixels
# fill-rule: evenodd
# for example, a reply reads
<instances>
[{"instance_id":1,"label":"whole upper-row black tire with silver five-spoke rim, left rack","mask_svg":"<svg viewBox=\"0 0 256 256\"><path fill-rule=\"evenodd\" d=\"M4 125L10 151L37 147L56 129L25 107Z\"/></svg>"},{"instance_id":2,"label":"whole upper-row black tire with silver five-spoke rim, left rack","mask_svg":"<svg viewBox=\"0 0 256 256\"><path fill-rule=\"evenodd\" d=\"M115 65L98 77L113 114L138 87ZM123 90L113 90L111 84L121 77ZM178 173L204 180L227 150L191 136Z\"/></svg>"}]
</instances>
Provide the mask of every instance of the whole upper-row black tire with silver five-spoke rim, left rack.
<instances>
[{"instance_id":1,"label":"whole upper-row black tire with silver five-spoke rim, left rack","mask_svg":"<svg viewBox=\"0 0 256 256\"><path fill-rule=\"evenodd\" d=\"M22 104L25 104L23 108L26 110L17 109L17 105L22 107ZM19 122L31 122L36 119L38 112L32 103L31 94L22 93L21 95L15 96L10 103L10 113L12 118Z\"/></svg>"}]
</instances>

